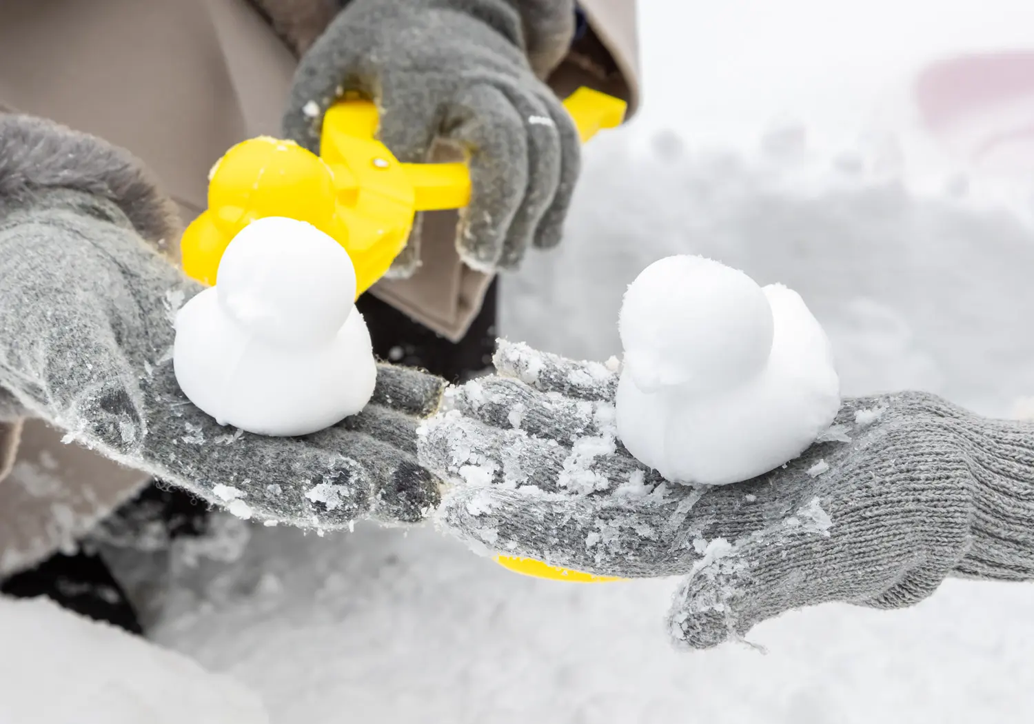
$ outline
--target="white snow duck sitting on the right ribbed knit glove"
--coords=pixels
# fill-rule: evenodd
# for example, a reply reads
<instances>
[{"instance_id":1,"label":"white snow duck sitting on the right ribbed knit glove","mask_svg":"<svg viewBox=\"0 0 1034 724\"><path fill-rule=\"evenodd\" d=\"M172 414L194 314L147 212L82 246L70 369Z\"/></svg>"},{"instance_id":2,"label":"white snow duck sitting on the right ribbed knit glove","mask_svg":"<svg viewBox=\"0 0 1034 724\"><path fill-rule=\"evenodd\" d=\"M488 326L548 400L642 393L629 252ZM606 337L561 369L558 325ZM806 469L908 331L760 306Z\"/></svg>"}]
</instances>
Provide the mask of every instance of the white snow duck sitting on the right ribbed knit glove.
<instances>
[{"instance_id":1,"label":"white snow duck sitting on the right ribbed knit glove","mask_svg":"<svg viewBox=\"0 0 1034 724\"><path fill-rule=\"evenodd\" d=\"M803 452L840 410L825 332L782 284L701 257L669 257L629 286L617 431L679 483L725 485Z\"/></svg>"}]
</instances>

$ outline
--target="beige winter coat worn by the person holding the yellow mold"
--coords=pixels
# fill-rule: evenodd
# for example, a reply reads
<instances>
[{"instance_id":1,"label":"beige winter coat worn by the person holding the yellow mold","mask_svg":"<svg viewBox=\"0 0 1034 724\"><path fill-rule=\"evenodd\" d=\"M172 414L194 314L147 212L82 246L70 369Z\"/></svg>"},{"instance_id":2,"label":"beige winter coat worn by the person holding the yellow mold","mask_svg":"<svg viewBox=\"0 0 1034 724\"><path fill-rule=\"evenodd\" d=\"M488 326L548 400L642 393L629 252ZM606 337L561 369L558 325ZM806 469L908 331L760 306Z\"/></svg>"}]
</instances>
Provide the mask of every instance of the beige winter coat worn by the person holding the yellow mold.
<instances>
[{"instance_id":1,"label":"beige winter coat worn by the person holding the yellow mold","mask_svg":"<svg viewBox=\"0 0 1034 724\"><path fill-rule=\"evenodd\" d=\"M256 7L258 5L260 7ZM549 79L637 103L635 0L581 0L591 33ZM335 0L0 0L0 105L99 135L141 157L184 222L235 143L277 134L297 55ZM373 293L462 336L489 279L459 263L455 215L425 222L420 272ZM19 436L21 443L19 444ZM17 453L16 453L17 451ZM0 424L0 576L31 566L132 495L142 474L38 421Z\"/></svg>"}]
</instances>

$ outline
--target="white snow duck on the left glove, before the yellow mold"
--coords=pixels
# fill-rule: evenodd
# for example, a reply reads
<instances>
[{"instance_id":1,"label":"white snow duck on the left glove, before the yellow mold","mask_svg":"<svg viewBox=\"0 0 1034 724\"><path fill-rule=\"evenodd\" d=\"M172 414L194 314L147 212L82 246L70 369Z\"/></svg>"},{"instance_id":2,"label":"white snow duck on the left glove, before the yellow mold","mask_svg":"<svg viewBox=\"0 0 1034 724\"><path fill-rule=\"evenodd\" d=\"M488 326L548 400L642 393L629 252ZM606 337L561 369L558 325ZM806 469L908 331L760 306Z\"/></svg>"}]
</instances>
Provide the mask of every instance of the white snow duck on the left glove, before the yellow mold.
<instances>
[{"instance_id":1,"label":"white snow duck on the left glove, before the yellow mold","mask_svg":"<svg viewBox=\"0 0 1034 724\"><path fill-rule=\"evenodd\" d=\"M352 260L330 236L291 218L252 221L216 285L176 316L180 388L219 424L258 434L308 434L355 415L376 382L355 296Z\"/></svg>"}]
</instances>

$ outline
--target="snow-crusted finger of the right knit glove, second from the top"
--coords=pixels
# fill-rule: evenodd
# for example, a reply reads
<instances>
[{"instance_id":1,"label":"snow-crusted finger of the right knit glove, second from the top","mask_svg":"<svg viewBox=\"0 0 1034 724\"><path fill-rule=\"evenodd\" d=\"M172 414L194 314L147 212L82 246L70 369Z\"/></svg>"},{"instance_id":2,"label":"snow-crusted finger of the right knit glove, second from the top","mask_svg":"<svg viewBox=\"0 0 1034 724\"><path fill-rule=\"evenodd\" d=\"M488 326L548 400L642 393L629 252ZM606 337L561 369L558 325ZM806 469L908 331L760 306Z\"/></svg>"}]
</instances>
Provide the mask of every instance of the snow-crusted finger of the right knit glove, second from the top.
<instances>
[{"instance_id":1,"label":"snow-crusted finger of the right knit glove, second from the top","mask_svg":"<svg viewBox=\"0 0 1034 724\"><path fill-rule=\"evenodd\" d=\"M616 434L612 403L538 392L513 378L472 380L456 389L452 402L490 427L521 429L568 446L583 436Z\"/></svg>"}]
</instances>

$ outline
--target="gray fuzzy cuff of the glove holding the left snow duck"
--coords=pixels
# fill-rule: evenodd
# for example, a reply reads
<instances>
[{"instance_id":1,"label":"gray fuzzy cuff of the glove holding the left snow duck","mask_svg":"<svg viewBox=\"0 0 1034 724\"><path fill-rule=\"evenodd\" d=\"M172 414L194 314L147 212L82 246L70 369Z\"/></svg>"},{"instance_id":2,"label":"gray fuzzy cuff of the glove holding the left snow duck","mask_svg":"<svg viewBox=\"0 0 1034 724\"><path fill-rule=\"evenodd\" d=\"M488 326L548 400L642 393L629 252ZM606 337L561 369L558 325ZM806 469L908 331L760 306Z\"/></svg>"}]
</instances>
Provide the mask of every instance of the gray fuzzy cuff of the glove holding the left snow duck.
<instances>
[{"instance_id":1,"label":"gray fuzzy cuff of the glove holding the left snow duck","mask_svg":"<svg viewBox=\"0 0 1034 724\"><path fill-rule=\"evenodd\" d=\"M0 213L58 189L114 203L159 249L179 238L175 204L128 151L53 121L0 115Z\"/></svg>"}]
</instances>

